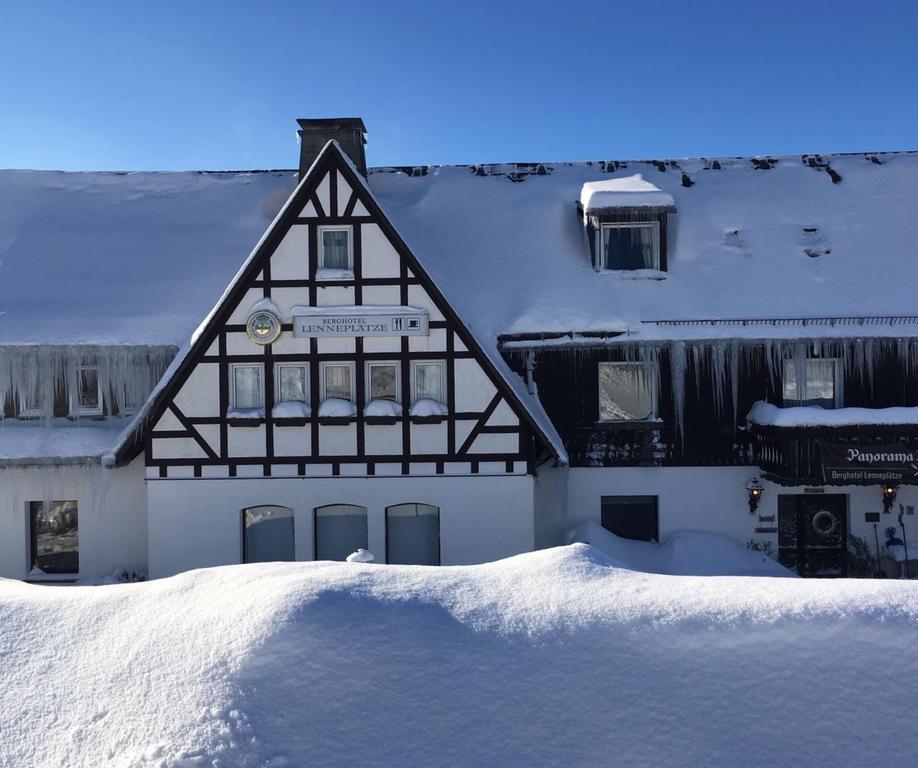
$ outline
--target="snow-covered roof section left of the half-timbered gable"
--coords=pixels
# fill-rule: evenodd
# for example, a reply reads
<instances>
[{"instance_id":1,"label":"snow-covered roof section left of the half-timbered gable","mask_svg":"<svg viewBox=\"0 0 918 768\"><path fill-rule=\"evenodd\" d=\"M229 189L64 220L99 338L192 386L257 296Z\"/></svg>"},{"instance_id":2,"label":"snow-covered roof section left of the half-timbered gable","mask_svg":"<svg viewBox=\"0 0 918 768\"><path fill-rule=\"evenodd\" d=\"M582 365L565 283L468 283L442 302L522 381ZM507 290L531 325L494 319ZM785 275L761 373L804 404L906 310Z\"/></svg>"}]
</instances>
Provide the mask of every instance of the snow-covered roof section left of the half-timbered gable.
<instances>
[{"instance_id":1,"label":"snow-covered roof section left of the half-timbered gable","mask_svg":"<svg viewBox=\"0 0 918 768\"><path fill-rule=\"evenodd\" d=\"M0 344L185 344L294 171L0 171Z\"/></svg>"}]
</instances>

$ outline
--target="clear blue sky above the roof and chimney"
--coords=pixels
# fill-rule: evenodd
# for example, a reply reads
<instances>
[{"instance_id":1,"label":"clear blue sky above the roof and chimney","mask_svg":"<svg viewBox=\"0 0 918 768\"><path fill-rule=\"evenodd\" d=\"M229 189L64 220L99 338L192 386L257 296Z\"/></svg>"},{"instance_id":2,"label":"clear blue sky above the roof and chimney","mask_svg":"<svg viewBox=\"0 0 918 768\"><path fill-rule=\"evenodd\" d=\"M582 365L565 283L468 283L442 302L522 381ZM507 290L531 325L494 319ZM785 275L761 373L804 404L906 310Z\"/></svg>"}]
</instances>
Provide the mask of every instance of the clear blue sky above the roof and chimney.
<instances>
[{"instance_id":1,"label":"clear blue sky above the roof and chimney","mask_svg":"<svg viewBox=\"0 0 918 768\"><path fill-rule=\"evenodd\" d=\"M291 167L916 149L918 3L42 2L0 7L0 167Z\"/></svg>"}]
</instances>

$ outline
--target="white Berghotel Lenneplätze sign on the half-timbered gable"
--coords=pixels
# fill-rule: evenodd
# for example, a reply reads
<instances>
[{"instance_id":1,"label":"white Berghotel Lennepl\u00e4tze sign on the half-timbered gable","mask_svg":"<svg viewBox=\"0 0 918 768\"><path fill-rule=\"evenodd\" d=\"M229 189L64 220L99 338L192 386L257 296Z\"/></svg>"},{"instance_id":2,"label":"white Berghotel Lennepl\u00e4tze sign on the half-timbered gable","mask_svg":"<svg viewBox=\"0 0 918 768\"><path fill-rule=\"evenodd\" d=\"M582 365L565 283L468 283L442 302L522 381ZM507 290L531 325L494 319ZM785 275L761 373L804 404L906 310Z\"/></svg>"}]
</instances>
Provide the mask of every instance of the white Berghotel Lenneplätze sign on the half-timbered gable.
<instances>
[{"instance_id":1,"label":"white Berghotel Lennepl\u00e4tze sign on the half-timbered gable","mask_svg":"<svg viewBox=\"0 0 918 768\"><path fill-rule=\"evenodd\" d=\"M419 307L294 307L293 335L313 336L427 336L430 323Z\"/></svg>"}]
</instances>

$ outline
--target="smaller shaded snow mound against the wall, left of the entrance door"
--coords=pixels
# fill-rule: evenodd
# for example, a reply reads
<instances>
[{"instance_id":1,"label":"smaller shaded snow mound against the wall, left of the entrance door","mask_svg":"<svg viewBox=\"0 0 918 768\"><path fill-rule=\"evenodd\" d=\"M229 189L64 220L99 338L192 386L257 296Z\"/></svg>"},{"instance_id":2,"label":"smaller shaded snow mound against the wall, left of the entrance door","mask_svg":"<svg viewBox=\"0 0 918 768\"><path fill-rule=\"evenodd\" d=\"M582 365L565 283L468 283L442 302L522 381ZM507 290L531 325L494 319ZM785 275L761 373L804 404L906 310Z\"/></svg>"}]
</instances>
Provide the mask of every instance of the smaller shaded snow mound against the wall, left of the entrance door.
<instances>
[{"instance_id":1,"label":"smaller shaded snow mound against the wall, left of the entrance door","mask_svg":"<svg viewBox=\"0 0 918 768\"><path fill-rule=\"evenodd\" d=\"M670 576L796 576L764 552L753 552L707 531L677 531L662 544L616 536L595 520L568 533L568 541L589 544L616 565Z\"/></svg>"}]
</instances>

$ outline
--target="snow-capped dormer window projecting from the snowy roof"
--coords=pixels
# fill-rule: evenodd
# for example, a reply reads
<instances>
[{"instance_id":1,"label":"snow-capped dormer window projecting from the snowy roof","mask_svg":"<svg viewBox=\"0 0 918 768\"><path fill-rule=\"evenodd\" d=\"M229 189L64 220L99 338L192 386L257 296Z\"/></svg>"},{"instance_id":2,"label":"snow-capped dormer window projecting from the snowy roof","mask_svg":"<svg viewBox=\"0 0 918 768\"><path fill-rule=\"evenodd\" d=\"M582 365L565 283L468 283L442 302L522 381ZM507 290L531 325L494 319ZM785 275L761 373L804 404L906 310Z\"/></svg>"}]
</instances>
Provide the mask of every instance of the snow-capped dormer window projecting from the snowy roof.
<instances>
[{"instance_id":1,"label":"snow-capped dormer window projecting from the snowy roof","mask_svg":"<svg viewBox=\"0 0 918 768\"><path fill-rule=\"evenodd\" d=\"M580 213L597 272L665 271L666 221L672 196L640 174L592 181L580 193Z\"/></svg>"}]
</instances>

